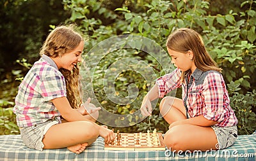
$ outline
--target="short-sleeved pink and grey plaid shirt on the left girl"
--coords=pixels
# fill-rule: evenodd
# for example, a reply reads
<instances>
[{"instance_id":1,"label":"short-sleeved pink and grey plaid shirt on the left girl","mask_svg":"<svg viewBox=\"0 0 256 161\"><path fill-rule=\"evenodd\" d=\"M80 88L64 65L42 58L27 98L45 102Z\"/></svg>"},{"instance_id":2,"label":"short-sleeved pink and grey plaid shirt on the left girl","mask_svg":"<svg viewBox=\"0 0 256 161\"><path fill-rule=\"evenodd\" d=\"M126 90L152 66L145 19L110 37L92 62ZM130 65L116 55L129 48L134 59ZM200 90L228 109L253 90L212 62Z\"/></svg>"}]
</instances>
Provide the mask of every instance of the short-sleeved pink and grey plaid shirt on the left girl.
<instances>
[{"instance_id":1,"label":"short-sleeved pink and grey plaid shirt on the left girl","mask_svg":"<svg viewBox=\"0 0 256 161\"><path fill-rule=\"evenodd\" d=\"M66 95L64 76L53 60L44 55L20 83L13 108L18 126L29 127L60 116L50 100Z\"/></svg>"}]
</instances>

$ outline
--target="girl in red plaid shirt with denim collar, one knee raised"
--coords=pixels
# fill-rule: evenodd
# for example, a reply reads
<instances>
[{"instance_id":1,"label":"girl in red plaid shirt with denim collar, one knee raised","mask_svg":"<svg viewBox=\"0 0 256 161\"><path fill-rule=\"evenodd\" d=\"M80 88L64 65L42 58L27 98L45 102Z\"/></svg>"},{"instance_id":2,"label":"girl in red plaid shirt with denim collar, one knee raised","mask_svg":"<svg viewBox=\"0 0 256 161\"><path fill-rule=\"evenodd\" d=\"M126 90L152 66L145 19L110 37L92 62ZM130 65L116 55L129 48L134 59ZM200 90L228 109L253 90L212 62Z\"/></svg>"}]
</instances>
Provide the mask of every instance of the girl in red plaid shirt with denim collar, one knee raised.
<instances>
[{"instance_id":1,"label":"girl in red plaid shirt with denim collar, one knee raised","mask_svg":"<svg viewBox=\"0 0 256 161\"><path fill-rule=\"evenodd\" d=\"M151 101L181 87L182 99L166 96L160 102L160 113L170 124L164 144L172 151L216 150L234 144L237 118L221 69L205 50L200 34L178 29L166 46L177 68L157 79L143 99L142 115L152 113Z\"/></svg>"}]
</instances>

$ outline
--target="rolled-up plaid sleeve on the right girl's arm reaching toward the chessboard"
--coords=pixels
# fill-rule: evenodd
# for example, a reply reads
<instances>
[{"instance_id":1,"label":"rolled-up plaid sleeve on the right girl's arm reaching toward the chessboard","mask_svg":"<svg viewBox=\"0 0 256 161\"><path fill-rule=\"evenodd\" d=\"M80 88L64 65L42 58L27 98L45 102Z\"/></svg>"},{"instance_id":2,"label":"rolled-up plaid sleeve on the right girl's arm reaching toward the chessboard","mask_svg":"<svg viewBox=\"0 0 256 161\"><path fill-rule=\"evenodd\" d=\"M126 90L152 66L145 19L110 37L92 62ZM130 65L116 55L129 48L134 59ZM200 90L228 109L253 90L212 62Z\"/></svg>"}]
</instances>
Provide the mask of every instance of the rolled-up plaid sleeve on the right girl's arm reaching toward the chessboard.
<instances>
[{"instance_id":1,"label":"rolled-up plaid sleeve on the right girl's arm reaching toward the chessboard","mask_svg":"<svg viewBox=\"0 0 256 161\"><path fill-rule=\"evenodd\" d=\"M172 73L165 74L156 80L159 90L159 97L163 98L171 90L175 90L181 86L181 71L175 69Z\"/></svg>"}]
</instances>

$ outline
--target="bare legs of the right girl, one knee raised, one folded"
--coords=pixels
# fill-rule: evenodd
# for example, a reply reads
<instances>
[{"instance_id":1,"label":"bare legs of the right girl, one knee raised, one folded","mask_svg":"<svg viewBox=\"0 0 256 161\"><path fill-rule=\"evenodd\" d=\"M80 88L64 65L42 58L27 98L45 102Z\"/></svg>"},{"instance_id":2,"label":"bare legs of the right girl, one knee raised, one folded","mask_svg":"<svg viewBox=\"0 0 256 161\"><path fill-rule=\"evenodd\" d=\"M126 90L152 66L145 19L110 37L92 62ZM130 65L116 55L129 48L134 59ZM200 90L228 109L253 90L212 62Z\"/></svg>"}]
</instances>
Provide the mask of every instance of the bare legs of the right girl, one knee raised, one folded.
<instances>
[{"instance_id":1,"label":"bare legs of the right girl, one knee raised, one folded","mask_svg":"<svg viewBox=\"0 0 256 161\"><path fill-rule=\"evenodd\" d=\"M164 97L159 108L164 120L170 124L187 119L186 109L181 99ZM164 144L172 151L216 150L217 143L216 134L211 127L176 125L164 135Z\"/></svg>"}]
</instances>

